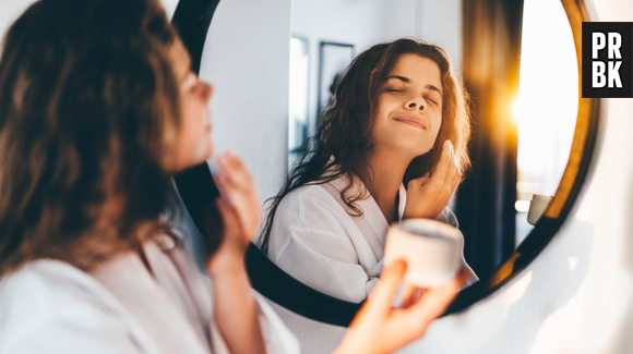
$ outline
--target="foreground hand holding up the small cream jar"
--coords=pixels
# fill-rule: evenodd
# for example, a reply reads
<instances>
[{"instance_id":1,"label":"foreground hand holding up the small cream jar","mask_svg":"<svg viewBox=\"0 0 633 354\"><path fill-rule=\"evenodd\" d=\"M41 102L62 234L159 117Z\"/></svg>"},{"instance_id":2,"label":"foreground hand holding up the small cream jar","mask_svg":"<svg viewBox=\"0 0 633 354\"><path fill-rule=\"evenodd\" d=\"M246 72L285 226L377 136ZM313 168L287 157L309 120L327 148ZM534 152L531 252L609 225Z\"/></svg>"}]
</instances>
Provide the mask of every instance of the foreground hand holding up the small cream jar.
<instances>
[{"instance_id":1,"label":"foreground hand holding up the small cream jar","mask_svg":"<svg viewBox=\"0 0 633 354\"><path fill-rule=\"evenodd\" d=\"M367 303L349 326L336 354L391 353L425 335L429 325L444 313L468 271L462 269L454 280L428 290L409 291L401 307L392 307L406 264L401 260L385 269Z\"/></svg>"}]
</instances>

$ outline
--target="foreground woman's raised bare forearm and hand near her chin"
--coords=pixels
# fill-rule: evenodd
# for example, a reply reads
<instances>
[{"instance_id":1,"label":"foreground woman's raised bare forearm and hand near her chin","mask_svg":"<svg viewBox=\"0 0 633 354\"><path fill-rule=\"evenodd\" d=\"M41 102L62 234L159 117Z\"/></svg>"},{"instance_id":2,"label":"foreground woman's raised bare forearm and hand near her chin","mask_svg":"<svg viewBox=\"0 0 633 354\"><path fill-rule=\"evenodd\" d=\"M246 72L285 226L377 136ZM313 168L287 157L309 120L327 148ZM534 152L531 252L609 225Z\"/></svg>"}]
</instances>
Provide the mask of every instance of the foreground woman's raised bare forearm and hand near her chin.
<instances>
[{"instance_id":1,"label":"foreground woman's raised bare forearm and hand near her chin","mask_svg":"<svg viewBox=\"0 0 633 354\"><path fill-rule=\"evenodd\" d=\"M252 179L239 159L226 154L218 159L216 175L223 200L217 208L223 219L224 239L207 263L214 280L214 320L230 353L265 353L243 261L246 248L260 224L260 204ZM212 227L212 225L210 225Z\"/></svg>"}]
</instances>

